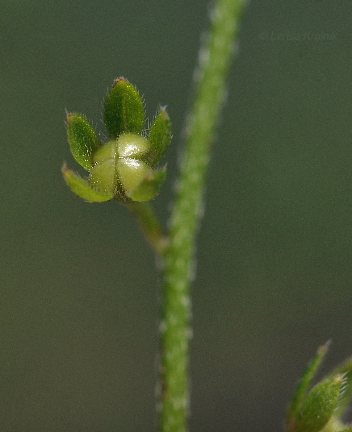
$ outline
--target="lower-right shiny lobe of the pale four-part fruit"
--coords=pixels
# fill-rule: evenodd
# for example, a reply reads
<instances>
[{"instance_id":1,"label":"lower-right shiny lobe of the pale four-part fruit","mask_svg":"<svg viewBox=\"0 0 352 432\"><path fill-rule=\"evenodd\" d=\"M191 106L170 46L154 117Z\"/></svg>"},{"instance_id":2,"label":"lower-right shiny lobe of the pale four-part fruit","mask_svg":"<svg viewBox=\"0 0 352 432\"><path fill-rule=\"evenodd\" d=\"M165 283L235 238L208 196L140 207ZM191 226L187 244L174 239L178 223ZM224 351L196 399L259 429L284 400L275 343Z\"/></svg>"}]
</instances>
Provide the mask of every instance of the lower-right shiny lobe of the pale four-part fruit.
<instances>
[{"instance_id":1,"label":"lower-right shiny lobe of the pale four-part fruit","mask_svg":"<svg viewBox=\"0 0 352 432\"><path fill-rule=\"evenodd\" d=\"M130 158L118 158L117 172L126 195L131 194L150 173L151 168L144 162Z\"/></svg>"}]
</instances>

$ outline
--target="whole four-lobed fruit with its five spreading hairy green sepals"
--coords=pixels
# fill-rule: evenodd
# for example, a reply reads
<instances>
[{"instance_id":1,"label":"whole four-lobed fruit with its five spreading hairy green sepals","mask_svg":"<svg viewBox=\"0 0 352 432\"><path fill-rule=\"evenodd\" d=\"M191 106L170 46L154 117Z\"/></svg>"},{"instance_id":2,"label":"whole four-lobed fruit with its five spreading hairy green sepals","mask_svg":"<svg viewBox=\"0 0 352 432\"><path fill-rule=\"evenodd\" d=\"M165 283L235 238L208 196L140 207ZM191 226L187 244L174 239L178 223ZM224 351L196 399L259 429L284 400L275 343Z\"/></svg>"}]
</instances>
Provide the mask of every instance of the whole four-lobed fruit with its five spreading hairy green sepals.
<instances>
[{"instance_id":1,"label":"whole four-lobed fruit with its five spreading hairy green sepals","mask_svg":"<svg viewBox=\"0 0 352 432\"><path fill-rule=\"evenodd\" d=\"M170 119L165 108L150 128L150 140L141 136L144 107L137 90L115 79L104 105L104 122L111 139L99 145L93 128L79 114L67 115L67 137L74 158L87 171L89 182L66 168L66 183L87 201L115 197L122 203L148 201L157 196L166 168L154 171L170 144Z\"/></svg>"}]
</instances>

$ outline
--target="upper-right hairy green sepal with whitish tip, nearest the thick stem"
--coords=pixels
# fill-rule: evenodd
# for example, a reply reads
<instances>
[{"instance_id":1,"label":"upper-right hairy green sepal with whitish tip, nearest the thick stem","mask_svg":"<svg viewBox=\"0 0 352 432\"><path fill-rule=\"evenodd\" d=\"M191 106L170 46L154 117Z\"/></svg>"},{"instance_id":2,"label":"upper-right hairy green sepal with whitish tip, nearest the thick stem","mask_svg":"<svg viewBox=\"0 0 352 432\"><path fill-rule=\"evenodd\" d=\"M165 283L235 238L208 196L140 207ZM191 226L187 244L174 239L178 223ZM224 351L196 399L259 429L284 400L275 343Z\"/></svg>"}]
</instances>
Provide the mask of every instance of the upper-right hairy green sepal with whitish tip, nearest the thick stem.
<instances>
[{"instance_id":1,"label":"upper-right hairy green sepal with whitish tip, nearest the thick stem","mask_svg":"<svg viewBox=\"0 0 352 432\"><path fill-rule=\"evenodd\" d=\"M149 161L151 166L157 165L165 156L171 141L171 122L166 112L166 107L160 108L159 115L155 118L149 131L151 146Z\"/></svg>"}]
</instances>

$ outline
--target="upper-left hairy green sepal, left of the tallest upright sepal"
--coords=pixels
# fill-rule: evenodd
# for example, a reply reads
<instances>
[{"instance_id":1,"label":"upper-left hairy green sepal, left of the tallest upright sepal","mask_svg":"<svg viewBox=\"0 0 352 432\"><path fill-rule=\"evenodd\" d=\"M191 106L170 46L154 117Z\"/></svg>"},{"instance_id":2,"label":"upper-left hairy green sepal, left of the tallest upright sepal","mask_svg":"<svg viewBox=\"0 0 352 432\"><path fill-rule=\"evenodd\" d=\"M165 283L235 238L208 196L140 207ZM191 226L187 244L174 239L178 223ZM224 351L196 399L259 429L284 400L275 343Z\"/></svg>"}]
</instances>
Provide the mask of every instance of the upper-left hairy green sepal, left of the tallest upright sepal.
<instances>
[{"instance_id":1,"label":"upper-left hairy green sepal, left of the tallest upright sepal","mask_svg":"<svg viewBox=\"0 0 352 432\"><path fill-rule=\"evenodd\" d=\"M74 159L87 171L92 168L91 154L99 146L99 139L86 118L70 113L66 116L67 140Z\"/></svg>"}]
</instances>

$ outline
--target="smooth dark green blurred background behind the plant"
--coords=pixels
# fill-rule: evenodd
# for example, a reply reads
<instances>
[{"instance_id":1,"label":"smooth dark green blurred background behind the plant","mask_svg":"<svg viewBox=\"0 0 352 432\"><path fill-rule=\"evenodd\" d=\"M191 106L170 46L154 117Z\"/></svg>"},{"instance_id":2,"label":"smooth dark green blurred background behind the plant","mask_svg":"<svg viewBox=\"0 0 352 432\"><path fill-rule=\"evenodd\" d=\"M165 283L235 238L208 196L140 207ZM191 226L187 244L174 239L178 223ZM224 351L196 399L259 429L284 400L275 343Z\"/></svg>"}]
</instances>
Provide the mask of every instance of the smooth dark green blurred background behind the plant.
<instances>
[{"instance_id":1,"label":"smooth dark green blurred background behind the plant","mask_svg":"<svg viewBox=\"0 0 352 432\"><path fill-rule=\"evenodd\" d=\"M328 0L243 16L192 287L192 432L280 431L317 346L325 370L352 354L351 19ZM154 257L122 206L64 184L64 110L104 133L120 75L149 118L168 105L165 223L207 27L205 0L0 2L2 432L155 429Z\"/></svg>"}]
</instances>

